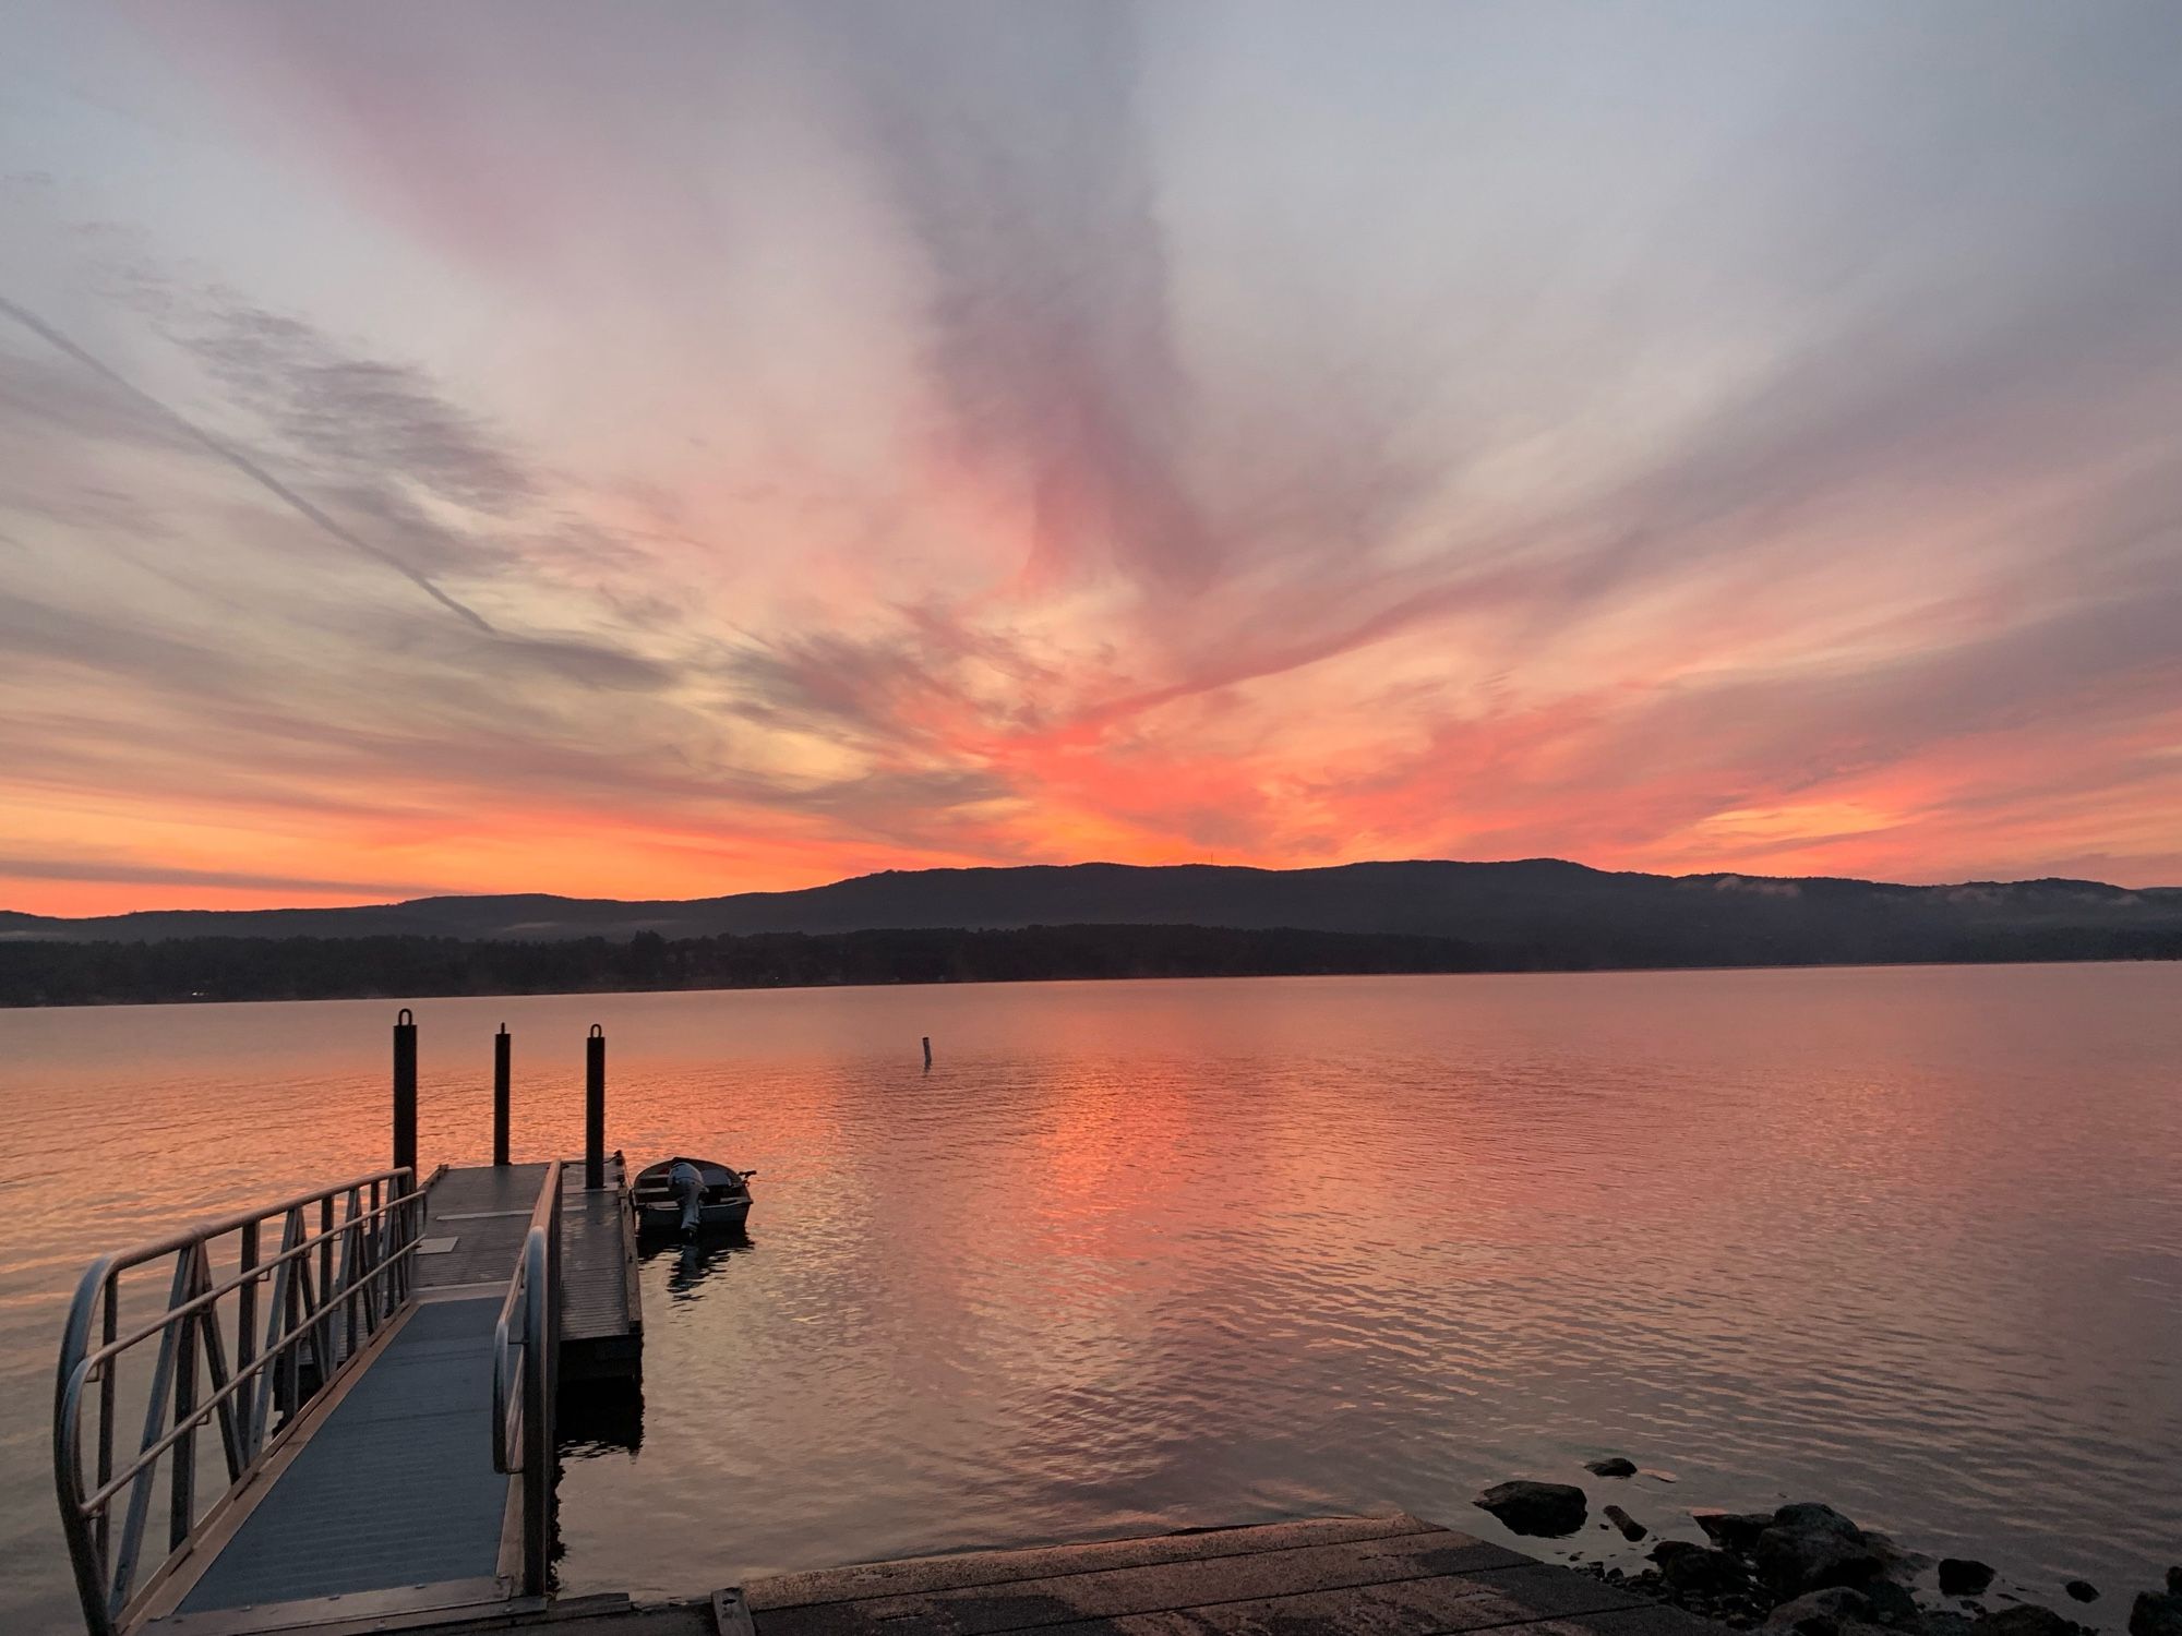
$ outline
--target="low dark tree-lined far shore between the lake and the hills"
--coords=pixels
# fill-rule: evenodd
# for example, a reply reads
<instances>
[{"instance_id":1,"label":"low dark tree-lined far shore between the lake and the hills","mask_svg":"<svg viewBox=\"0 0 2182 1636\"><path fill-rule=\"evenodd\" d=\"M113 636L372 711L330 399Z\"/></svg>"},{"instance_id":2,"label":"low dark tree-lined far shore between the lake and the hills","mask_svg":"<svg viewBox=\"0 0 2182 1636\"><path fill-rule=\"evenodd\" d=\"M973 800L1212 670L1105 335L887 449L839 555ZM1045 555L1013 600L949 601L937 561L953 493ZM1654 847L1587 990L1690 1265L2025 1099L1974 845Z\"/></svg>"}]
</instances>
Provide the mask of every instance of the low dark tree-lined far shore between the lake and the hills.
<instances>
[{"instance_id":1,"label":"low dark tree-lined far shore between the lake and the hills","mask_svg":"<svg viewBox=\"0 0 2182 1636\"><path fill-rule=\"evenodd\" d=\"M2147 949L1964 947L1940 958L1641 960L1567 947L1506 949L1455 938L1292 927L1067 925L886 929L742 938L170 938L0 942L0 1008L209 1006L312 999L489 999L530 995L927 988L1004 982L1196 977L1431 977L1643 971L1818 971L1903 966L2143 964L2182 960L2182 936Z\"/></svg>"}]
</instances>

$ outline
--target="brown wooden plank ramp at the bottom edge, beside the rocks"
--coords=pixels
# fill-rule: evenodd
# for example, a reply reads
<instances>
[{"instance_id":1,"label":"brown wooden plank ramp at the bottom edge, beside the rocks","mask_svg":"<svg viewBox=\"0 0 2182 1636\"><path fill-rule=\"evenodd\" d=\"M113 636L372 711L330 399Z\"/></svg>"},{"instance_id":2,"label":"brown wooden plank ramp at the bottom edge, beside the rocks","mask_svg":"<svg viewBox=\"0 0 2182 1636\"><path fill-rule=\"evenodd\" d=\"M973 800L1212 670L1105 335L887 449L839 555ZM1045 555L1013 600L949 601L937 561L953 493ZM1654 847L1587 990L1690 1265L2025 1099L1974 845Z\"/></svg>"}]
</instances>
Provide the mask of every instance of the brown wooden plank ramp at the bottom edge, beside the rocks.
<instances>
[{"instance_id":1,"label":"brown wooden plank ramp at the bottom edge, beside the rocks","mask_svg":"<svg viewBox=\"0 0 2182 1636\"><path fill-rule=\"evenodd\" d=\"M576 1597L493 1621L358 1623L473 1636L1722 1636L1678 1608L1414 1516L973 1551L757 1579L661 1605Z\"/></svg>"}]
</instances>

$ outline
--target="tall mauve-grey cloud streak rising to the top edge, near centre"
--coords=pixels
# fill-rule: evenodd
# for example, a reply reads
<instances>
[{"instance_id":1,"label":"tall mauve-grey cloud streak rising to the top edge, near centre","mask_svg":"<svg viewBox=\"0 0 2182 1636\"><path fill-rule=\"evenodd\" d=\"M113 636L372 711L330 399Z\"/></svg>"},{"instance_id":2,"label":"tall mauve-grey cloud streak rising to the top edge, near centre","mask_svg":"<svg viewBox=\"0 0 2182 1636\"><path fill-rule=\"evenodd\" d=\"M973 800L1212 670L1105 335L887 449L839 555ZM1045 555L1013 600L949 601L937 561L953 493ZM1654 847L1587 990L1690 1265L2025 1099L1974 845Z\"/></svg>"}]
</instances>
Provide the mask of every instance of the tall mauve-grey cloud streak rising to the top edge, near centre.
<instances>
[{"instance_id":1,"label":"tall mauve-grey cloud streak rising to the top edge, near centre","mask_svg":"<svg viewBox=\"0 0 2182 1636\"><path fill-rule=\"evenodd\" d=\"M1034 576L1117 563L1209 585L1222 548L1183 462L1135 9L805 20L916 249L936 458L1021 517Z\"/></svg>"}]
</instances>

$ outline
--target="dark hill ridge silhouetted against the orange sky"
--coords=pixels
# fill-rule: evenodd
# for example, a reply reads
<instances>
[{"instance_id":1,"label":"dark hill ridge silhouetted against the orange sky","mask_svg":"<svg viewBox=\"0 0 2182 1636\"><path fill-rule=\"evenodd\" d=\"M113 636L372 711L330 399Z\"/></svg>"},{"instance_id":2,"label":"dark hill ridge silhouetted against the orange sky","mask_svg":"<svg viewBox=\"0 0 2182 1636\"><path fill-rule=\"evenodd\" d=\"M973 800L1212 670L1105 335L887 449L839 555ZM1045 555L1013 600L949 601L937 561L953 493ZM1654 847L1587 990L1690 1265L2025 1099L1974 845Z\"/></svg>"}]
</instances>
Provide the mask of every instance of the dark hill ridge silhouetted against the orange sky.
<instances>
[{"instance_id":1,"label":"dark hill ridge silhouetted against the orange sky","mask_svg":"<svg viewBox=\"0 0 2182 1636\"><path fill-rule=\"evenodd\" d=\"M1460 940L1495 966L1750 966L2182 955L2182 888L1890 886L1632 875L1558 859L1338 868L1069 864L860 875L801 892L622 903L434 897L345 910L0 912L0 940L463 938L554 942L873 929L1237 927Z\"/></svg>"}]
</instances>

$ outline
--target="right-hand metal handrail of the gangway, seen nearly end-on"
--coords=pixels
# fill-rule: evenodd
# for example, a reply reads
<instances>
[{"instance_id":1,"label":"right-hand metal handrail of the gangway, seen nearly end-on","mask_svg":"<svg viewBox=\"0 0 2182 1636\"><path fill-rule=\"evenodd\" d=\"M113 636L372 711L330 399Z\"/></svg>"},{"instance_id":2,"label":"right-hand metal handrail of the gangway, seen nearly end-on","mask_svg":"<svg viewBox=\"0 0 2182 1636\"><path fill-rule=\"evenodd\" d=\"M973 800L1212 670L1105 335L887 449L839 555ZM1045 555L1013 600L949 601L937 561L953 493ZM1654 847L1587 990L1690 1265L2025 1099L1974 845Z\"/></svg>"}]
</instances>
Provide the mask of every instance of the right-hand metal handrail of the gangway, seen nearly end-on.
<instances>
[{"instance_id":1,"label":"right-hand metal handrail of the gangway, seen nearly end-on","mask_svg":"<svg viewBox=\"0 0 2182 1636\"><path fill-rule=\"evenodd\" d=\"M521 1339L517 1339L517 1335ZM561 1165L530 1211L524 1254L493 1324L493 1470L524 1481L524 1595L552 1564L554 1403L561 1374Z\"/></svg>"}]
</instances>

